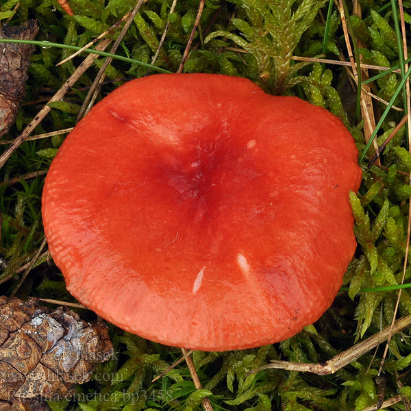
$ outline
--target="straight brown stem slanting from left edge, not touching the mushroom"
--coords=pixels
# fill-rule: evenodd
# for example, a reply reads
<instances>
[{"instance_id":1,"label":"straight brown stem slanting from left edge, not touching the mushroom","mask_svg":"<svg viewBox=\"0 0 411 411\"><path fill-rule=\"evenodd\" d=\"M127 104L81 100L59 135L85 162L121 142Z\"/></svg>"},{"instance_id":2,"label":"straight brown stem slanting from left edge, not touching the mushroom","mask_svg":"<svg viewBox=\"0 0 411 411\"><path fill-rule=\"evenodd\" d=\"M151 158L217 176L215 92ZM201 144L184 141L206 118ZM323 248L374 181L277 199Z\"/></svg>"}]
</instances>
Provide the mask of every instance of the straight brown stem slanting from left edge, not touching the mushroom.
<instances>
[{"instance_id":1,"label":"straight brown stem slanting from left edge, not touching the mushroom","mask_svg":"<svg viewBox=\"0 0 411 411\"><path fill-rule=\"evenodd\" d=\"M99 51L103 51L106 47L108 47L111 41L112 40L110 39L101 40L99 45L97 45L96 49ZM60 99L62 99L64 95L66 94L66 92L69 90L69 88L71 88L73 84L75 84L75 82L77 82L77 80L80 77L82 77L83 73L92 65L94 59L98 57L99 55L97 54L89 54L84 59L82 64L80 64L77 67L77 70L69 77L69 79L67 79L66 82L64 82L64 84L57 90L57 92L55 92L55 95L51 97L51 99L49 100L49 103L51 103L52 101L60 101ZM50 110L51 110L51 107L49 107L49 105L45 105L40 110L40 112L38 112L38 114L34 117L34 119L30 121L27 127L25 127L25 129L20 134L20 136L15 138L12 144L10 145L10 147L8 147L8 149L6 149L0 155L0 169L1 167L3 167L3 165L8 160L8 158L10 158L10 155L12 155L12 153L14 153L14 151L16 151L18 147L20 147L21 143L25 141L27 137L29 137L30 134L32 134L34 129L38 126L38 124L41 123L42 119L44 119L45 116L47 116Z\"/></svg>"}]
</instances>

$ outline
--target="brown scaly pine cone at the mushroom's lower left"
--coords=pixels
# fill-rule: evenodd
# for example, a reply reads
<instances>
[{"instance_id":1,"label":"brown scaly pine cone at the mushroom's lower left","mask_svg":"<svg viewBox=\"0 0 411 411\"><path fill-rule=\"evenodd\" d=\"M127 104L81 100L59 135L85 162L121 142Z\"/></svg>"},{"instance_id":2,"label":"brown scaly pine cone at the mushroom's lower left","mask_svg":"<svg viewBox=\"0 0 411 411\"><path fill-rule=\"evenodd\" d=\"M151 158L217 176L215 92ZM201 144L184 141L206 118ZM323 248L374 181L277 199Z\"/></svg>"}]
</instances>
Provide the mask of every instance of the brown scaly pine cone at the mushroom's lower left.
<instances>
[{"instance_id":1,"label":"brown scaly pine cone at the mushroom's lower left","mask_svg":"<svg viewBox=\"0 0 411 411\"><path fill-rule=\"evenodd\" d=\"M112 353L103 323L0 297L0 411L47 410L42 400L71 397Z\"/></svg>"}]
</instances>

